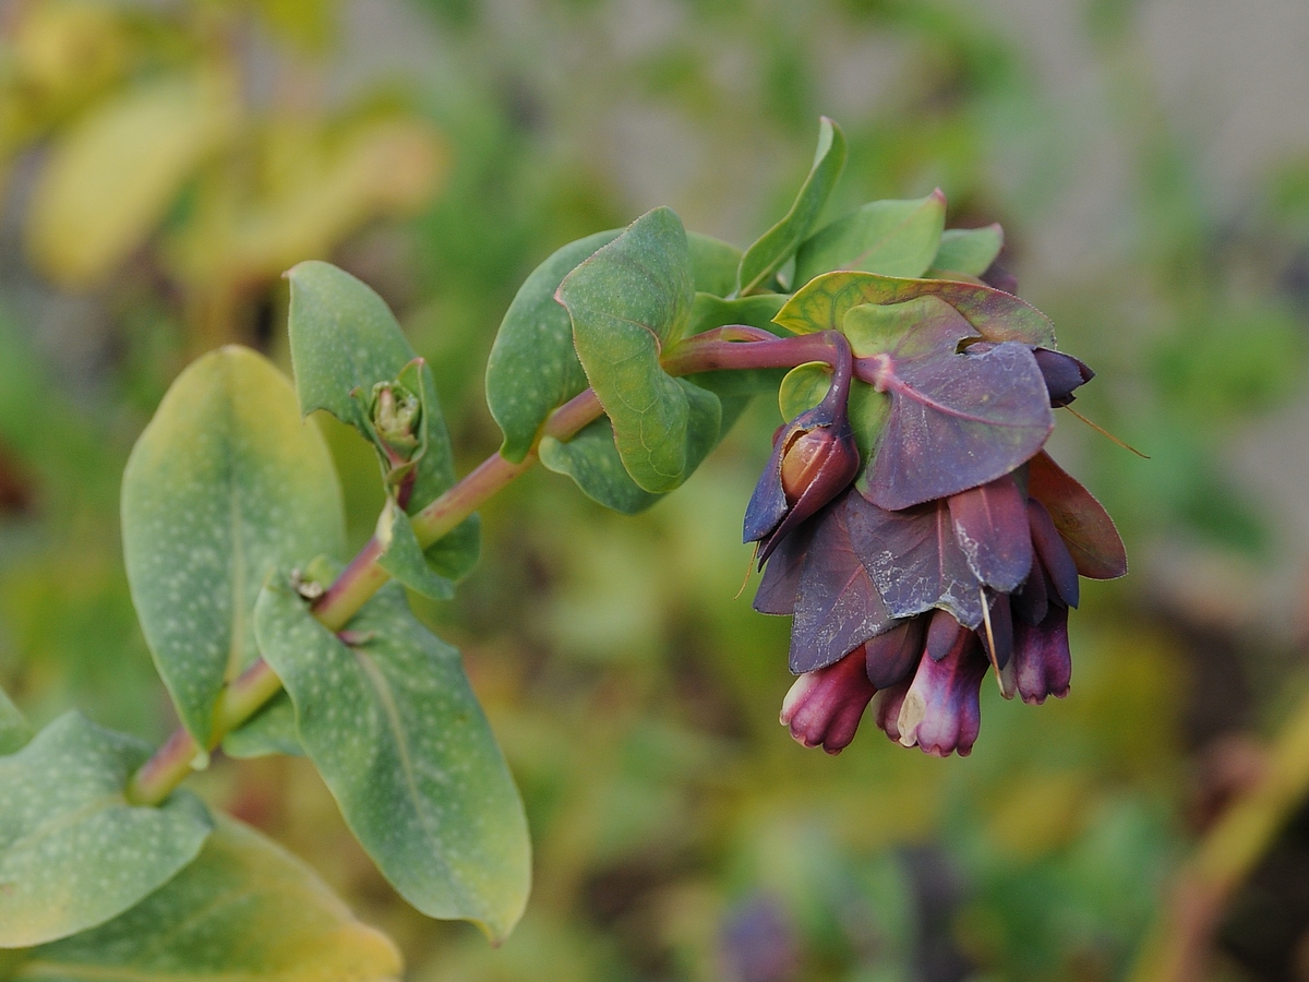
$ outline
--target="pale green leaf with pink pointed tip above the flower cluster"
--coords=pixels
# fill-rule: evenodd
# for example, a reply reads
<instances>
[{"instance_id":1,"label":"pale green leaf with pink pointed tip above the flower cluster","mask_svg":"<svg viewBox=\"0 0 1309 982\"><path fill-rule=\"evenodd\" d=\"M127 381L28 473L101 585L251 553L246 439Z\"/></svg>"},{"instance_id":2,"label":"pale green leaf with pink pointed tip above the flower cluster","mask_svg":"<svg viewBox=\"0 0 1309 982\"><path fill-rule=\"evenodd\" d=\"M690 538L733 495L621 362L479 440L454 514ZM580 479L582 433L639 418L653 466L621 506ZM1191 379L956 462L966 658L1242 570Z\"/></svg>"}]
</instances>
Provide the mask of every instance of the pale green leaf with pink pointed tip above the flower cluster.
<instances>
[{"instance_id":1,"label":"pale green leaf with pink pointed tip above the flower cluster","mask_svg":"<svg viewBox=\"0 0 1309 982\"><path fill-rule=\"evenodd\" d=\"M796 253L796 284L831 270L922 276L945 228L945 195L869 202L805 240Z\"/></svg>"}]
</instances>

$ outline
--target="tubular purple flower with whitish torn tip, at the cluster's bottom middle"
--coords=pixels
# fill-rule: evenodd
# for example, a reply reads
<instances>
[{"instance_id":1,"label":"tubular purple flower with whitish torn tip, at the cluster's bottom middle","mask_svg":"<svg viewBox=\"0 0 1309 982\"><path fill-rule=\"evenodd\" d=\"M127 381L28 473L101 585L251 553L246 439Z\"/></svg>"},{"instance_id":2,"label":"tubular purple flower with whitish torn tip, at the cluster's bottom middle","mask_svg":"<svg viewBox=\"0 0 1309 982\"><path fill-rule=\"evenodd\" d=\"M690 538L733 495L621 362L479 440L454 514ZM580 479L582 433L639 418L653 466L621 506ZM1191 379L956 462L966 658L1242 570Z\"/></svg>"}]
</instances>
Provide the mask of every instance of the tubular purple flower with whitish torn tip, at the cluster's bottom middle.
<instances>
[{"instance_id":1,"label":"tubular purple flower with whitish torn tip, at the cluster's bottom middle","mask_svg":"<svg viewBox=\"0 0 1309 982\"><path fill-rule=\"evenodd\" d=\"M987 668L990 661L971 631L962 632L940 661L923 657L895 719L901 744L918 744L935 757L971 753L982 725L980 691Z\"/></svg>"}]
</instances>

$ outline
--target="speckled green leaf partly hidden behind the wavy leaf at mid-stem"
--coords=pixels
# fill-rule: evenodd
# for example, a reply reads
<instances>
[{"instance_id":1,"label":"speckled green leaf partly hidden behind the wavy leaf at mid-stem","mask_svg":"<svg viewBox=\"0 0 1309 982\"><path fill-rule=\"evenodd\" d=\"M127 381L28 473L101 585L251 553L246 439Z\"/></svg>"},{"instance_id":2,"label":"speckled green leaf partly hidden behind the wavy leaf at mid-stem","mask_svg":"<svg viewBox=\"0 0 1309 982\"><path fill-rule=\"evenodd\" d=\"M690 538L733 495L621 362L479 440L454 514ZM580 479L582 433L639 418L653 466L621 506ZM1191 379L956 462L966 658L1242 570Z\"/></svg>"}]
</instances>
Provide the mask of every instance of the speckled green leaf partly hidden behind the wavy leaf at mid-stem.
<instances>
[{"instance_id":1,"label":"speckled green leaf partly hidden behind the wavy leaf at mid-stem","mask_svg":"<svg viewBox=\"0 0 1309 982\"><path fill-rule=\"evenodd\" d=\"M514 464L528 456L546 416L586 388L572 321L555 292L583 259L619 234L597 232L556 250L518 287L500 322L487 359L487 406L504 433L500 454Z\"/></svg>"}]
</instances>

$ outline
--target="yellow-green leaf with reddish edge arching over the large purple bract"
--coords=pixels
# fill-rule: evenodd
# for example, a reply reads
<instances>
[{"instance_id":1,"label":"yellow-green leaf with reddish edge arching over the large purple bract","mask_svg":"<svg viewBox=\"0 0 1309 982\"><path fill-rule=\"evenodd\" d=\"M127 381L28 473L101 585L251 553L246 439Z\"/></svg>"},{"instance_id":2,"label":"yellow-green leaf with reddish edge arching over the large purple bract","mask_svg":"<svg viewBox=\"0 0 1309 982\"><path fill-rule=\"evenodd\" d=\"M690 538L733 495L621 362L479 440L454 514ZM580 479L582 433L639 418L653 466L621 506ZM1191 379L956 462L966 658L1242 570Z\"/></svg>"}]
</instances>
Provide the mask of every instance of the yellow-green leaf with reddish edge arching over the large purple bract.
<instances>
[{"instance_id":1,"label":"yellow-green leaf with reddish edge arching over the large purple bract","mask_svg":"<svg viewBox=\"0 0 1309 982\"><path fill-rule=\"evenodd\" d=\"M795 334L843 330L846 314L856 306L902 304L925 296L939 297L953 306L986 340L1055 347L1054 325L1037 308L991 287L953 280L827 272L797 291L775 319Z\"/></svg>"}]
</instances>

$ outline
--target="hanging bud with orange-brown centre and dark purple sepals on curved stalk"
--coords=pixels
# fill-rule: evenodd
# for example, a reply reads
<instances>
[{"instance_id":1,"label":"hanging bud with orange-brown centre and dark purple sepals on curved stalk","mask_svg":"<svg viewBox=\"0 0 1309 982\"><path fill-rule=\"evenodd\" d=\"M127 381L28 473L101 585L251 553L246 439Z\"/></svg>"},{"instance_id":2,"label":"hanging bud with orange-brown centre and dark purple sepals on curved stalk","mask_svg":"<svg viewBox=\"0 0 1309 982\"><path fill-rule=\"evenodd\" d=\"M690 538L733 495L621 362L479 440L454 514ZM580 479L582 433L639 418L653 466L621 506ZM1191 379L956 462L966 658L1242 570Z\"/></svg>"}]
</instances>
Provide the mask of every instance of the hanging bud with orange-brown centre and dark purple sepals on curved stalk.
<instances>
[{"instance_id":1,"label":"hanging bud with orange-brown centre and dark purple sepals on curved stalk","mask_svg":"<svg viewBox=\"0 0 1309 982\"><path fill-rule=\"evenodd\" d=\"M859 474L859 446L847 401L850 342L834 335L831 388L823 401L778 431L772 456L745 511L744 542L759 542L759 564L805 518L844 491Z\"/></svg>"}]
</instances>

